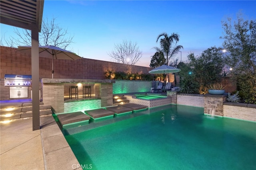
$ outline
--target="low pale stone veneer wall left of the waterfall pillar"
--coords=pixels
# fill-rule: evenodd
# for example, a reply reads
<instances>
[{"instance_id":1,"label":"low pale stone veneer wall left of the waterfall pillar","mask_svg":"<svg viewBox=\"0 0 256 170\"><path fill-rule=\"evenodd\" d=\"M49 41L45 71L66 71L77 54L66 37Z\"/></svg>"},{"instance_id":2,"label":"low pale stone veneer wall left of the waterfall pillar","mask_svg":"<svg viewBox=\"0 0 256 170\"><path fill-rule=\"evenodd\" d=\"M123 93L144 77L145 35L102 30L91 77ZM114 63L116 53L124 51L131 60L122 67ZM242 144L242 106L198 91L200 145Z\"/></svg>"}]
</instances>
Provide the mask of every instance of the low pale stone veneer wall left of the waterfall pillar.
<instances>
[{"instance_id":1,"label":"low pale stone veneer wall left of the waterfall pillar","mask_svg":"<svg viewBox=\"0 0 256 170\"><path fill-rule=\"evenodd\" d=\"M204 107L204 95L198 94L177 94L177 104Z\"/></svg>"}]
</instances>

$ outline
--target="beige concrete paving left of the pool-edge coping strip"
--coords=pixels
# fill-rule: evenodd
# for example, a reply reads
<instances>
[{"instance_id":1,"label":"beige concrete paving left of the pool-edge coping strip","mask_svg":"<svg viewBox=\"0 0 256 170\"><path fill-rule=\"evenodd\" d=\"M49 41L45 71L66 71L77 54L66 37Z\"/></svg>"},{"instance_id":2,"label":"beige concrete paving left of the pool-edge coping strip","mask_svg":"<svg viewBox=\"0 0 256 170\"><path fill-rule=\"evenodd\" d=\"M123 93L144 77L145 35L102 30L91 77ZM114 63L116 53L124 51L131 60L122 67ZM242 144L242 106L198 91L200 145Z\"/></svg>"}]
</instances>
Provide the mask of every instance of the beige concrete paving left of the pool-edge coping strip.
<instances>
[{"instance_id":1,"label":"beige concrete paving left of the pool-edge coping strip","mask_svg":"<svg viewBox=\"0 0 256 170\"><path fill-rule=\"evenodd\" d=\"M32 130L32 119L0 123L0 169L45 169L40 130Z\"/></svg>"}]
</instances>

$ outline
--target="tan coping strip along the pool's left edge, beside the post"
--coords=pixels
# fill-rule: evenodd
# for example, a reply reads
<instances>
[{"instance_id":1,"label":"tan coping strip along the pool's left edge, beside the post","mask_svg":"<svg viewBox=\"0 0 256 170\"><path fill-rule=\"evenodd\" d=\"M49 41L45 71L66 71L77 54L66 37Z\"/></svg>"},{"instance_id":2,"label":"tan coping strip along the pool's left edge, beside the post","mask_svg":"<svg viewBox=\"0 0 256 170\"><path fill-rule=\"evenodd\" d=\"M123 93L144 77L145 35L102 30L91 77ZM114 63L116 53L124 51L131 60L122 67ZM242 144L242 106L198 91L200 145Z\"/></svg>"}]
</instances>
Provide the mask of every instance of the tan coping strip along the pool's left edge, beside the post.
<instances>
[{"instance_id":1,"label":"tan coping strip along the pool's left edge, beside the post","mask_svg":"<svg viewBox=\"0 0 256 170\"><path fill-rule=\"evenodd\" d=\"M40 122L45 169L82 169L54 117L41 117Z\"/></svg>"}]
</instances>

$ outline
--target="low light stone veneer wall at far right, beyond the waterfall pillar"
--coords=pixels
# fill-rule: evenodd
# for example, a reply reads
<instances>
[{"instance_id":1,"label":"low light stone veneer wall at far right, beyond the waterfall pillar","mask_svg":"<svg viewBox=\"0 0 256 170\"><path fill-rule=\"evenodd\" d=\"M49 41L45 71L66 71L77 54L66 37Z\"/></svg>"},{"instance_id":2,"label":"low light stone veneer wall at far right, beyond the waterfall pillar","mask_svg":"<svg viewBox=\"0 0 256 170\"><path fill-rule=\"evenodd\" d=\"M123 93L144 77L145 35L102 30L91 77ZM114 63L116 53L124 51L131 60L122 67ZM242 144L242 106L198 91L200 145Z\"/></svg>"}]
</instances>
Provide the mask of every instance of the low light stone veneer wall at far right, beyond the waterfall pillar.
<instances>
[{"instance_id":1,"label":"low light stone veneer wall at far right, beyond the waterfall pillar","mask_svg":"<svg viewBox=\"0 0 256 170\"><path fill-rule=\"evenodd\" d=\"M256 121L256 105L246 103L223 103L223 116L246 121Z\"/></svg>"}]
</instances>

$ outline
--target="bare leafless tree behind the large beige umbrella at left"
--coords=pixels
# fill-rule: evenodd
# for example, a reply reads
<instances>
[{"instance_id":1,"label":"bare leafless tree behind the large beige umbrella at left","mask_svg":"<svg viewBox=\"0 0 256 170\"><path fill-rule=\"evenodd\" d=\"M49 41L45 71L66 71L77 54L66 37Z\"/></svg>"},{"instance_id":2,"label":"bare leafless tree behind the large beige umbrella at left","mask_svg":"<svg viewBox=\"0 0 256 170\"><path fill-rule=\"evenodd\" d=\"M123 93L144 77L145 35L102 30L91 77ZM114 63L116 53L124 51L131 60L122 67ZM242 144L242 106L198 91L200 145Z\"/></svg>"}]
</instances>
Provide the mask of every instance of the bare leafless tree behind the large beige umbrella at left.
<instances>
[{"instance_id":1,"label":"bare leafless tree behind the large beige umbrella at left","mask_svg":"<svg viewBox=\"0 0 256 170\"><path fill-rule=\"evenodd\" d=\"M41 32L39 33L39 45L54 45L62 49L66 49L72 42L74 36L67 36L67 29L60 28L55 23L56 18L52 18L51 21L46 18L42 21ZM18 35L15 40L16 45L31 45L31 31L23 29L20 32L17 28L14 29L14 33Z\"/></svg>"}]
</instances>

